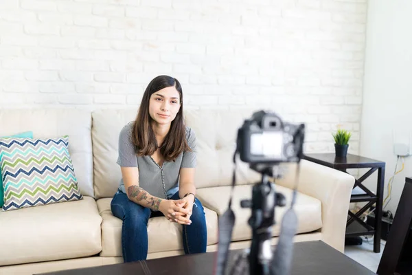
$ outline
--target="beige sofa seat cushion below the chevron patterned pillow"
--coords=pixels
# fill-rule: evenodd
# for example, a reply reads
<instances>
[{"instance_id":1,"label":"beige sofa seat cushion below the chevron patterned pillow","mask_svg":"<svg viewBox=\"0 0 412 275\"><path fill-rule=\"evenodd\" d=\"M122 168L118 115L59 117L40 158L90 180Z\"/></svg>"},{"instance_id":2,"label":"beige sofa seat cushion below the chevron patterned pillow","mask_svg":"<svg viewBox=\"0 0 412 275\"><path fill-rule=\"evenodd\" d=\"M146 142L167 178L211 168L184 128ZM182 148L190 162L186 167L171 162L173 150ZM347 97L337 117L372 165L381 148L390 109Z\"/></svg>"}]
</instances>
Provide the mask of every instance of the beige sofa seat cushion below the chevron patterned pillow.
<instances>
[{"instance_id":1,"label":"beige sofa seat cushion below the chevron patterned pillow","mask_svg":"<svg viewBox=\"0 0 412 275\"><path fill-rule=\"evenodd\" d=\"M0 266L98 254L101 223L95 200L86 196L0 212Z\"/></svg>"}]
</instances>

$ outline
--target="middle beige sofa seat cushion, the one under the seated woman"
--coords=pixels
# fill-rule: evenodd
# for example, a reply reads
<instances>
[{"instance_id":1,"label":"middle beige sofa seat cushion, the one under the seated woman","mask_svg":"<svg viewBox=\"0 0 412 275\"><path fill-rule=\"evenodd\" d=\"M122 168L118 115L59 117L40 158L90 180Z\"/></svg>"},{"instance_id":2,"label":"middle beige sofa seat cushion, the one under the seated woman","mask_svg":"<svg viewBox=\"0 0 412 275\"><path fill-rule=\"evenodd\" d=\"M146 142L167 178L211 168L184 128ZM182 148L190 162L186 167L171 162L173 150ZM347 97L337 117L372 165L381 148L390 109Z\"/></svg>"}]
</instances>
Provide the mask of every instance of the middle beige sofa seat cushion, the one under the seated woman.
<instances>
[{"instance_id":1,"label":"middle beige sofa seat cushion, the one under the seated woman","mask_svg":"<svg viewBox=\"0 0 412 275\"><path fill-rule=\"evenodd\" d=\"M102 222L102 252L100 256L122 256L122 220L111 212L112 198L98 199L98 208ZM205 208L205 207L204 207ZM218 242L218 216L216 212L205 208L207 223L207 245ZM148 223L148 253L183 250L182 225L171 223L165 217L153 217Z\"/></svg>"}]
</instances>

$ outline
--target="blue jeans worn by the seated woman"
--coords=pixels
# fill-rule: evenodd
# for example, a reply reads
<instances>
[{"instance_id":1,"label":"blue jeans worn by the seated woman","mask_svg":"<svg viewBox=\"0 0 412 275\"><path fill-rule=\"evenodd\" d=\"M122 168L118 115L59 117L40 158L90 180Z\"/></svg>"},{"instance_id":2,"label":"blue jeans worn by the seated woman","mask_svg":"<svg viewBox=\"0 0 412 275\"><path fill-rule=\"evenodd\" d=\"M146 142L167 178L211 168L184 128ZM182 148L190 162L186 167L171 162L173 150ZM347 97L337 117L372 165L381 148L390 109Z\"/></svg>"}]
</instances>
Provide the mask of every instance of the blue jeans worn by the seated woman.
<instances>
[{"instance_id":1,"label":"blue jeans worn by the seated woman","mask_svg":"<svg viewBox=\"0 0 412 275\"><path fill-rule=\"evenodd\" d=\"M170 199L179 199L176 192ZM124 263L146 260L148 255L148 221L151 216L163 216L130 201L124 192L117 191L111 201L113 215L122 219L122 252ZM183 248L185 254L206 252L207 230L205 212L201 201L194 202L191 225L183 226Z\"/></svg>"}]
</instances>

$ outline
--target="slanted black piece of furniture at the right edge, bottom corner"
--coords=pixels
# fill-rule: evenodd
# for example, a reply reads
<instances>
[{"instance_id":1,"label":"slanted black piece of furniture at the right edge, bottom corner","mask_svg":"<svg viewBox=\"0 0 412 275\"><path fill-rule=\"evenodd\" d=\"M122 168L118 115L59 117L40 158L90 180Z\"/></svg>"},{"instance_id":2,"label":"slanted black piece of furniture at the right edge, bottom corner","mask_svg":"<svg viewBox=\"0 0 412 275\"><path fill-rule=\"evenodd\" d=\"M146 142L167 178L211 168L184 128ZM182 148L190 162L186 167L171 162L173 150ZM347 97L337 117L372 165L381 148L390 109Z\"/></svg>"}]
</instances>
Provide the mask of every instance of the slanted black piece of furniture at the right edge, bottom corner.
<instances>
[{"instance_id":1,"label":"slanted black piece of furniture at the right edge, bottom corner","mask_svg":"<svg viewBox=\"0 0 412 275\"><path fill-rule=\"evenodd\" d=\"M379 275L412 274L412 177L405 179L402 195L393 217L387 243L378 267Z\"/></svg>"}]
</instances>

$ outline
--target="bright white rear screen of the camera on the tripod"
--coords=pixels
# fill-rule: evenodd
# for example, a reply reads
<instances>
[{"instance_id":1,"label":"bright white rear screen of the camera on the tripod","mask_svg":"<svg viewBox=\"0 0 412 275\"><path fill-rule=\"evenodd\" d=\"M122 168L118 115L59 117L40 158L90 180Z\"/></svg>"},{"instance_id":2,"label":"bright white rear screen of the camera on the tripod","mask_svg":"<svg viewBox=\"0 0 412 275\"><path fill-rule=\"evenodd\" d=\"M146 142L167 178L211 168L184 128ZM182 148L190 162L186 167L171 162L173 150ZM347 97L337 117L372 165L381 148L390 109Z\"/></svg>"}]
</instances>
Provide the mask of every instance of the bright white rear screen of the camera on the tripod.
<instances>
[{"instance_id":1,"label":"bright white rear screen of the camera on the tripod","mask_svg":"<svg viewBox=\"0 0 412 275\"><path fill-rule=\"evenodd\" d=\"M282 158L282 132L264 132L251 134L251 155Z\"/></svg>"}]
</instances>

